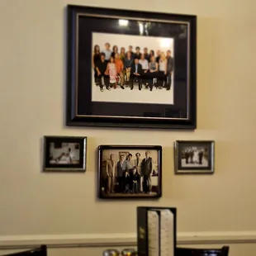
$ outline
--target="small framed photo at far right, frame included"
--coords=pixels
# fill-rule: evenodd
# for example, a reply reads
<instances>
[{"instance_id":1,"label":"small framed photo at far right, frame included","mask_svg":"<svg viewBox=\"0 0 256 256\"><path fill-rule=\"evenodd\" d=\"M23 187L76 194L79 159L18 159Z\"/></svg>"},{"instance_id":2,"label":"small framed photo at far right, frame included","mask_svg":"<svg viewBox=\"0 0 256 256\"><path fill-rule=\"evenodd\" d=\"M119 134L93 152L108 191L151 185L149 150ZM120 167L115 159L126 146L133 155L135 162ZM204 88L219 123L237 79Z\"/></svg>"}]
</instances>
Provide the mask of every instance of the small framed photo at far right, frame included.
<instances>
[{"instance_id":1,"label":"small framed photo at far right, frame included","mask_svg":"<svg viewBox=\"0 0 256 256\"><path fill-rule=\"evenodd\" d=\"M214 173L214 145L212 140L176 141L175 173Z\"/></svg>"}]
</instances>

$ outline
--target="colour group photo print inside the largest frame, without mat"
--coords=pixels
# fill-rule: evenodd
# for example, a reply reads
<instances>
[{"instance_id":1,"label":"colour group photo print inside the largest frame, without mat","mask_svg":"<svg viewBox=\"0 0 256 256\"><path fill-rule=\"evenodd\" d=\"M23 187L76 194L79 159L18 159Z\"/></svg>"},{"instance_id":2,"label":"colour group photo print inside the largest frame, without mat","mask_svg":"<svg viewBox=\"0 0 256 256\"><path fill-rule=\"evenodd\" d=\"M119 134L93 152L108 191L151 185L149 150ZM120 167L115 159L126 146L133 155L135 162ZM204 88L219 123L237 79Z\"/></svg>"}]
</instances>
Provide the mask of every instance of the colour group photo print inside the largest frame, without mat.
<instances>
[{"instance_id":1,"label":"colour group photo print inside the largest frame, without mat","mask_svg":"<svg viewBox=\"0 0 256 256\"><path fill-rule=\"evenodd\" d=\"M93 32L92 101L173 104L173 45L173 38Z\"/></svg>"}]
</instances>

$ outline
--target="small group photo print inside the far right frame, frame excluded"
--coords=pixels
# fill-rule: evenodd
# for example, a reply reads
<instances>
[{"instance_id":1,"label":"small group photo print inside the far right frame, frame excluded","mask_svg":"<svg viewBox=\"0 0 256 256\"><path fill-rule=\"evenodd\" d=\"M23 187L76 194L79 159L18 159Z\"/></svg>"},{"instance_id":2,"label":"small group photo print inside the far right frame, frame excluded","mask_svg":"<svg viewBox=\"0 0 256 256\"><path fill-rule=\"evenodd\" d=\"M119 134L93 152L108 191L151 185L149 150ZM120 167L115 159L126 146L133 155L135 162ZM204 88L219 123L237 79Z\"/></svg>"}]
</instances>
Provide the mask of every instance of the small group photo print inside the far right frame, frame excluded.
<instances>
[{"instance_id":1,"label":"small group photo print inside the far right frame, frame excluded","mask_svg":"<svg viewBox=\"0 0 256 256\"><path fill-rule=\"evenodd\" d=\"M208 167L208 151L204 147L184 147L182 167Z\"/></svg>"}]
</instances>

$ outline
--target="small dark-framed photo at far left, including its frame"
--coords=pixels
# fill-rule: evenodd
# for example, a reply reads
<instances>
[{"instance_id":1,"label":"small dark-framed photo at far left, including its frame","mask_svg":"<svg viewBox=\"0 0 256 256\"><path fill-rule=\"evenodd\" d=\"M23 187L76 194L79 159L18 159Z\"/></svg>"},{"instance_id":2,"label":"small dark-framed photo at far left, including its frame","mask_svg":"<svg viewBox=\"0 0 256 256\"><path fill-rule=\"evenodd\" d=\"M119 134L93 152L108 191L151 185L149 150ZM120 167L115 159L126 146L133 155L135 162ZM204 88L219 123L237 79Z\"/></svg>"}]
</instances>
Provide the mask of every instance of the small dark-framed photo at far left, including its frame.
<instances>
[{"instance_id":1,"label":"small dark-framed photo at far left, including its frame","mask_svg":"<svg viewBox=\"0 0 256 256\"><path fill-rule=\"evenodd\" d=\"M87 137L45 136L45 172L85 172Z\"/></svg>"}]
</instances>

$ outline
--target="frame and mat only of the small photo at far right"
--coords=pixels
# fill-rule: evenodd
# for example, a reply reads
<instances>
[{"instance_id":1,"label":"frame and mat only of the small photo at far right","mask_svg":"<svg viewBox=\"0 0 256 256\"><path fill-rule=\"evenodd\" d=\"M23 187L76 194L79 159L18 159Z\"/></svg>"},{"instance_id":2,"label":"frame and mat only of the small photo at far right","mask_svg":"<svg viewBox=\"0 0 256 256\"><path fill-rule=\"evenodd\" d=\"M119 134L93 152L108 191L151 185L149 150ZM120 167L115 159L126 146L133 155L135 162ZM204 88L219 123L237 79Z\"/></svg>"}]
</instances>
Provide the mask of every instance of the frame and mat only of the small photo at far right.
<instances>
[{"instance_id":1,"label":"frame and mat only of the small photo at far right","mask_svg":"<svg viewBox=\"0 0 256 256\"><path fill-rule=\"evenodd\" d=\"M210 156L211 166L209 168L180 168L180 149L183 144L208 145L211 149ZM215 141L214 140L176 140L174 142L174 173L175 174L213 174L215 173Z\"/></svg>"}]
</instances>

